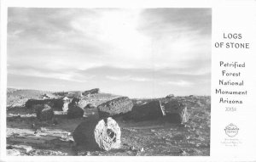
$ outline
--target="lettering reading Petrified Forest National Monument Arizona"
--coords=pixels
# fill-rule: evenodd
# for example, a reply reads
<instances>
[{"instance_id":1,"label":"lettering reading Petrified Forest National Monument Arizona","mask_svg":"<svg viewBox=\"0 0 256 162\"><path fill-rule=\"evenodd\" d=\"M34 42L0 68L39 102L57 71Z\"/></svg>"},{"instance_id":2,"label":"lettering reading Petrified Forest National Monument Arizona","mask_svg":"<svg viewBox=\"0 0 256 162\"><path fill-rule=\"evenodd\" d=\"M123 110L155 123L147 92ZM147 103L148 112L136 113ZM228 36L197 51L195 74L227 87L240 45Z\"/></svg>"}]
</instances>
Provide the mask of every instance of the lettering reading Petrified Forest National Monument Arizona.
<instances>
[{"instance_id":1,"label":"lettering reading Petrified Forest National Monument Arizona","mask_svg":"<svg viewBox=\"0 0 256 162\"><path fill-rule=\"evenodd\" d=\"M241 72L237 71L246 67L245 62L224 62L220 61L219 66L223 68L221 70L222 79L219 79L218 85L223 88L216 88L215 93L219 95L227 96L244 96L247 95L247 91L236 91L236 87L243 87L244 81L241 78ZM224 90L224 87L232 87L232 91ZM230 98L219 98L219 103L242 103L242 100L230 99Z\"/></svg>"}]
</instances>

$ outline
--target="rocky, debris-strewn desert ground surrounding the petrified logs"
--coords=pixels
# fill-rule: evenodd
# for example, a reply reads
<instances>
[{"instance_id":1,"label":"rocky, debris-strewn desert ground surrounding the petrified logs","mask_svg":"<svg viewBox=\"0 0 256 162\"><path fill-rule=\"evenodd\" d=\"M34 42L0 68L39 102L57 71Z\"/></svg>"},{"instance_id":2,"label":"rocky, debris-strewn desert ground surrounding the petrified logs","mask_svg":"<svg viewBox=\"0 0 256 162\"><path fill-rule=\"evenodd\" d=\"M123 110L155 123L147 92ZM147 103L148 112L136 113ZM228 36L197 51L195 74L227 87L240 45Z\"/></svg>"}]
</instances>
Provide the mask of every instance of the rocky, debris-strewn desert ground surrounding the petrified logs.
<instances>
[{"instance_id":1,"label":"rocky, debris-strewn desert ground surrounding the petrified logs","mask_svg":"<svg viewBox=\"0 0 256 162\"><path fill-rule=\"evenodd\" d=\"M134 121L116 118L121 128L121 147L110 151L99 151L77 147L72 136L74 129L81 122L96 117L97 109L86 109L84 116L77 119L68 119L66 113L55 111L54 120L39 121L34 111L25 107L25 103L27 99L42 98L44 93L55 96L53 92L8 90L7 154L25 156L210 155L210 97L174 97L188 108L189 121L184 124L172 124L166 120ZM86 96L83 100L97 106L118 97L97 93ZM151 99L132 99L134 103L144 103L148 100Z\"/></svg>"}]
</instances>

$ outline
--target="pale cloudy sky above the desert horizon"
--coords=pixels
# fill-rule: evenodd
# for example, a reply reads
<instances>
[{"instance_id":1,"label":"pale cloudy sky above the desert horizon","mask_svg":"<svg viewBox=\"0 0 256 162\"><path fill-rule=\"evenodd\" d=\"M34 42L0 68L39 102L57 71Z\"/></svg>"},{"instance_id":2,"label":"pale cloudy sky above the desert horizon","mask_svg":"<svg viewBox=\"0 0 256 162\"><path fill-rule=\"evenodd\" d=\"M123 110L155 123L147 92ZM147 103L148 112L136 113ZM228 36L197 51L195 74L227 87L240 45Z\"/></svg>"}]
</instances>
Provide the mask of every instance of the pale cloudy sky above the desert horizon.
<instances>
[{"instance_id":1,"label":"pale cloudy sky above the desert horizon","mask_svg":"<svg viewBox=\"0 0 256 162\"><path fill-rule=\"evenodd\" d=\"M210 95L211 8L9 8L8 87Z\"/></svg>"}]
</instances>

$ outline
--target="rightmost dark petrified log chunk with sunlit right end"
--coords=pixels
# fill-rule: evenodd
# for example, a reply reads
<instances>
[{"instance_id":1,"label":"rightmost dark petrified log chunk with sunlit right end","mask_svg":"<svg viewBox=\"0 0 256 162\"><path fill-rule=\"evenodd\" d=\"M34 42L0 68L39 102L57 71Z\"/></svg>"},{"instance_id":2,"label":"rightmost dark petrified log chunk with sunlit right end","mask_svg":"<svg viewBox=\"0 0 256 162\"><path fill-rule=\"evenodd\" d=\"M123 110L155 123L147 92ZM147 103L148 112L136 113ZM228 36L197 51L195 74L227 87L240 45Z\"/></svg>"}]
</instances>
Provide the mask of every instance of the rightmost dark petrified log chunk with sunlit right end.
<instances>
[{"instance_id":1,"label":"rightmost dark petrified log chunk with sunlit right end","mask_svg":"<svg viewBox=\"0 0 256 162\"><path fill-rule=\"evenodd\" d=\"M165 103L164 109L166 112L166 120L173 123L185 123L189 120L187 107L177 100Z\"/></svg>"}]
</instances>

